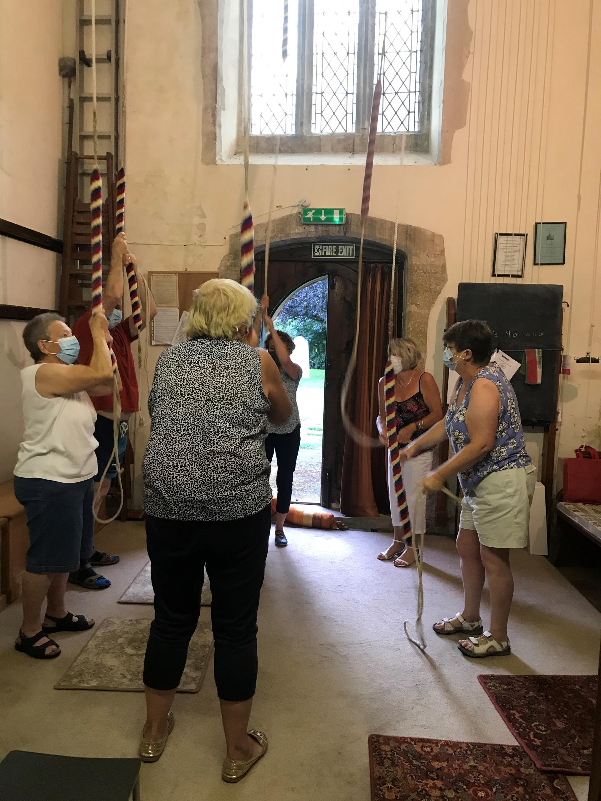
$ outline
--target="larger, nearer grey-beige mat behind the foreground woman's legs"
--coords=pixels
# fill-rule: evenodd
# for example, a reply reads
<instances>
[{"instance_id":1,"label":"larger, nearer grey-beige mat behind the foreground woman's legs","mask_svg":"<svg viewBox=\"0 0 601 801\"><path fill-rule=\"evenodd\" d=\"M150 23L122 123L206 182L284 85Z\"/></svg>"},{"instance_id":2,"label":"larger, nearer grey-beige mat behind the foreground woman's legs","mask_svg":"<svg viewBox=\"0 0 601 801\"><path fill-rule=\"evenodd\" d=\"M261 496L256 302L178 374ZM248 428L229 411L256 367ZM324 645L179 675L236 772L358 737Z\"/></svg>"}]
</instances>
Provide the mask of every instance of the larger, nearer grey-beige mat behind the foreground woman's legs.
<instances>
[{"instance_id":1,"label":"larger, nearer grey-beige mat behind the foreground woman's legs","mask_svg":"<svg viewBox=\"0 0 601 801\"><path fill-rule=\"evenodd\" d=\"M55 690L143 692L144 652L151 620L107 618L83 646ZM213 649L209 622L200 622L190 642L180 693L197 693Z\"/></svg>"}]
</instances>

